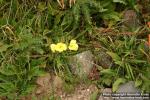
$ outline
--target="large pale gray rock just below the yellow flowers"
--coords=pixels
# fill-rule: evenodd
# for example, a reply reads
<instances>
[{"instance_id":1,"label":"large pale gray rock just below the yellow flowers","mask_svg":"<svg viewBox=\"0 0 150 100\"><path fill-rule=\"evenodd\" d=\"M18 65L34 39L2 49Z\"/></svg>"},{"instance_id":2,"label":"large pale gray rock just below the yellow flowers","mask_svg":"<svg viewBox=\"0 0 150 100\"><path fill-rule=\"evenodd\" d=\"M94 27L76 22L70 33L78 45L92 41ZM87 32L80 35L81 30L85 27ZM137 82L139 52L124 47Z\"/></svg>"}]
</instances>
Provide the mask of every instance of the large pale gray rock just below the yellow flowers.
<instances>
[{"instance_id":1,"label":"large pale gray rock just below the yellow flowers","mask_svg":"<svg viewBox=\"0 0 150 100\"><path fill-rule=\"evenodd\" d=\"M69 58L71 71L80 78L87 77L93 67L93 54L91 51L84 51Z\"/></svg>"}]
</instances>

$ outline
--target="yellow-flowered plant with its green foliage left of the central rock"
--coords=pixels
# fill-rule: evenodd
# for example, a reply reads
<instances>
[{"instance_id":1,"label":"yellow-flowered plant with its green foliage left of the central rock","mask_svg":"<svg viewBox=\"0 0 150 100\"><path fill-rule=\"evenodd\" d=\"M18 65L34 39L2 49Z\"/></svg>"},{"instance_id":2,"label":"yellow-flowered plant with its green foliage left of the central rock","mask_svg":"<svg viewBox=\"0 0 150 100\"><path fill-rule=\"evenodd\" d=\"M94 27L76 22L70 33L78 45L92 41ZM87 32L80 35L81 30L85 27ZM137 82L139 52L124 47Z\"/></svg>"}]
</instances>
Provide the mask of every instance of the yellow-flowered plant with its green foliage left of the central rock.
<instances>
[{"instance_id":1,"label":"yellow-flowered plant with its green foliage left of the central rock","mask_svg":"<svg viewBox=\"0 0 150 100\"><path fill-rule=\"evenodd\" d=\"M52 67L55 69L57 73L63 73L67 69L67 71L70 70L68 67L68 57L71 56L71 54L78 50L78 44L76 40L71 40L70 43L67 45L66 43L59 42L59 43L52 43L50 44L50 50L52 52L52 55L50 56L50 63L52 63Z\"/></svg>"}]
</instances>

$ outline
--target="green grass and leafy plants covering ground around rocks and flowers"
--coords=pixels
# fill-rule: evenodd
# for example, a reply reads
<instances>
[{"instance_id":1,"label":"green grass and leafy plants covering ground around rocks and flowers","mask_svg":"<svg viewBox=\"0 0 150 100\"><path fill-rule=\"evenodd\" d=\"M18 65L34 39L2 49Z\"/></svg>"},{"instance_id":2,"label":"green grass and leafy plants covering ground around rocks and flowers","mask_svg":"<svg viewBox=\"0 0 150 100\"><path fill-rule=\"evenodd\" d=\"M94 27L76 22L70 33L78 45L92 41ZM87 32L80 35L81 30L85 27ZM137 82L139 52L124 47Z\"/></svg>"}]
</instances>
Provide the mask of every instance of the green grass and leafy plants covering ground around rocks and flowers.
<instances>
[{"instance_id":1,"label":"green grass and leafy plants covering ground around rocks and flowers","mask_svg":"<svg viewBox=\"0 0 150 100\"><path fill-rule=\"evenodd\" d=\"M150 34L145 23L150 15L142 15L143 2L58 1L0 0L0 97L15 100L29 95L36 88L37 77L46 72L61 76L73 88L80 80L70 71L68 57L101 49L110 55L113 65L104 69L96 63L100 79L94 82L99 88L108 86L115 91L120 83L133 80L142 91L150 92L150 47L145 45ZM142 7L148 9L150 3ZM127 9L141 20L131 34L120 27ZM78 51L51 51L51 44L69 45L72 39L77 41ZM93 46L95 42L100 47Z\"/></svg>"}]
</instances>

